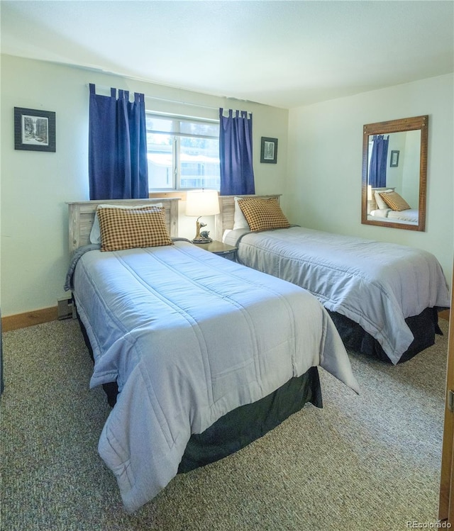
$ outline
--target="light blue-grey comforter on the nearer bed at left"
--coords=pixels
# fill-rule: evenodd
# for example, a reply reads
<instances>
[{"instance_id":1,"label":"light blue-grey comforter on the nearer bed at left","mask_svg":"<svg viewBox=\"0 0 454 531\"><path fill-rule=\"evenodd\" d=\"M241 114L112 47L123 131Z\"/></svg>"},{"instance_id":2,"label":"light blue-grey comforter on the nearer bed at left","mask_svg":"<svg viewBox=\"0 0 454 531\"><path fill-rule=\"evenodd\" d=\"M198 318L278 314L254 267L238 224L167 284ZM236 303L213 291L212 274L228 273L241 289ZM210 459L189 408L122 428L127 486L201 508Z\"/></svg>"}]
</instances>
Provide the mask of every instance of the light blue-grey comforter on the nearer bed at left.
<instances>
[{"instance_id":1,"label":"light blue-grey comforter on the nearer bed at left","mask_svg":"<svg viewBox=\"0 0 454 531\"><path fill-rule=\"evenodd\" d=\"M187 242L79 258L74 297L94 349L91 386L118 379L99 440L126 510L175 474L192 433L321 365L358 384L309 292Z\"/></svg>"}]
</instances>

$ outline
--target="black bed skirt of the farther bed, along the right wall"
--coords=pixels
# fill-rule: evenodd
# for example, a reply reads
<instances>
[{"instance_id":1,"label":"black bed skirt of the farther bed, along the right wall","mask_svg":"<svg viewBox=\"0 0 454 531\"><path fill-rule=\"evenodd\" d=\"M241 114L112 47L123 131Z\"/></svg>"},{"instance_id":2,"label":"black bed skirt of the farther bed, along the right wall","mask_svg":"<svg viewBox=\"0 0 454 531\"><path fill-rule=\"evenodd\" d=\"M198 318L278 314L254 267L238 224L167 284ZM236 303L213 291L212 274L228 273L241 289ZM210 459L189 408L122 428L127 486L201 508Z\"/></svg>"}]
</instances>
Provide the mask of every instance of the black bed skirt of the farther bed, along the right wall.
<instances>
[{"instance_id":1,"label":"black bed skirt of the farther bed, along the right wall","mask_svg":"<svg viewBox=\"0 0 454 531\"><path fill-rule=\"evenodd\" d=\"M345 348L375 357L382 362L391 363L391 360L384 353L380 343L372 335L365 332L358 323L355 323L340 313L331 311L328 311L328 313L331 315L333 323L338 329ZM435 343L436 334L443 335L443 332L441 332L438 326L437 308L426 308L419 315L406 318L405 322L414 335L414 340L404 354L402 354L399 363L406 362L422 350L431 347Z\"/></svg>"}]
</instances>

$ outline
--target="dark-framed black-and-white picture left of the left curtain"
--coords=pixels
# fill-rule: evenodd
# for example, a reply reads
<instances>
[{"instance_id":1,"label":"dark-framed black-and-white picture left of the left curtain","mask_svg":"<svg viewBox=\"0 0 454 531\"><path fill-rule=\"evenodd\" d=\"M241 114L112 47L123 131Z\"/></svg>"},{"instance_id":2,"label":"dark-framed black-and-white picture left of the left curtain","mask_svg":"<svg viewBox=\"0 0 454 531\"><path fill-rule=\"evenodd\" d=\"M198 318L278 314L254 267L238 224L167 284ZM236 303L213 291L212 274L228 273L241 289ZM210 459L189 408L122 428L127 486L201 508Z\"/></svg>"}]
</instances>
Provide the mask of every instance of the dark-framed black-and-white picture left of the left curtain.
<instances>
[{"instance_id":1,"label":"dark-framed black-and-white picture left of the left curtain","mask_svg":"<svg viewBox=\"0 0 454 531\"><path fill-rule=\"evenodd\" d=\"M55 113L14 107L14 149L55 152Z\"/></svg>"}]
</instances>

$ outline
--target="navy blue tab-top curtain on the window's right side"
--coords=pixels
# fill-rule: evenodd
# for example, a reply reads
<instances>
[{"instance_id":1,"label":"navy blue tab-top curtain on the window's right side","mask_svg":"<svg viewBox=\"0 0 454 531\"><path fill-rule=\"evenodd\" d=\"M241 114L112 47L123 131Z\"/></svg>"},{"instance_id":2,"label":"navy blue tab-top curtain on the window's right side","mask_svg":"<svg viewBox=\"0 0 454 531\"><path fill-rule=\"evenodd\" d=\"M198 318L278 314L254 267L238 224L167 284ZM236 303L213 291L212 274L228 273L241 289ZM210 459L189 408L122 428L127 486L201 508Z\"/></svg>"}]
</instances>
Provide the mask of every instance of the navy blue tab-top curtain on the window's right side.
<instances>
[{"instance_id":1,"label":"navy blue tab-top curtain on the window's right side","mask_svg":"<svg viewBox=\"0 0 454 531\"><path fill-rule=\"evenodd\" d=\"M219 109L219 160L221 196L255 194L252 113Z\"/></svg>"}]
</instances>

